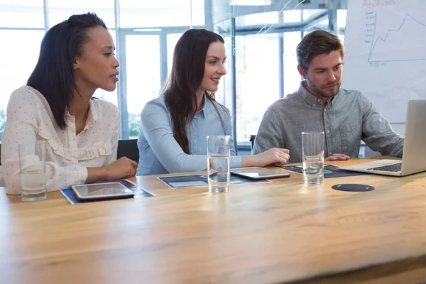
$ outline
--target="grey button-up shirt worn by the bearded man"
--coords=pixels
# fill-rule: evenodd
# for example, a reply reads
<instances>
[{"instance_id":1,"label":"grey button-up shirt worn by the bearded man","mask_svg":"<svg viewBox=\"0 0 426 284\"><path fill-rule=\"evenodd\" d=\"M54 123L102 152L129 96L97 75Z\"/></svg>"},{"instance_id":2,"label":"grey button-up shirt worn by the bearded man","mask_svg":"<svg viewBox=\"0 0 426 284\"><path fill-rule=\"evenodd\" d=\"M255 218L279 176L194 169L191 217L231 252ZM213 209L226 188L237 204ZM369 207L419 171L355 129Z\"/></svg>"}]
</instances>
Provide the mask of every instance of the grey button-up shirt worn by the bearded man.
<instances>
[{"instance_id":1,"label":"grey button-up shirt worn by the bearded man","mask_svg":"<svg viewBox=\"0 0 426 284\"><path fill-rule=\"evenodd\" d=\"M259 126L253 155L270 148L290 150L288 163L302 161L302 131L324 131L325 155L343 153L358 158L361 139L373 151L401 157L404 137L361 92L340 89L324 105L322 99L307 92L300 84L297 92L279 99L266 110Z\"/></svg>"}]
</instances>

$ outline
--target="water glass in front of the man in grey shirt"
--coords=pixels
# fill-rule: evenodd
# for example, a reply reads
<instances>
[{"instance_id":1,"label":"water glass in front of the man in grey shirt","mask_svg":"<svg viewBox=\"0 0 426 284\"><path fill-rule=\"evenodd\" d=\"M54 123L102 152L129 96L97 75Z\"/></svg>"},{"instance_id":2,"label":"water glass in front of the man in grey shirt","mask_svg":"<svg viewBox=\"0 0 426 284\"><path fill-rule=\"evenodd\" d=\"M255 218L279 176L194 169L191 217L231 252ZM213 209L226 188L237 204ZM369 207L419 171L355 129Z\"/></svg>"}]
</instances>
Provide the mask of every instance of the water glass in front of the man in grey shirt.
<instances>
[{"instance_id":1,"label":"water glass in front of the man in grey shirt","mask_svg":"<svg viewBox=\"0 0 426 284\"><path fill-rule=\"evenodd\" d=\"M303 180L319 185L324 180L324 132L302 132Z\"/></svg>"}]
</instances>

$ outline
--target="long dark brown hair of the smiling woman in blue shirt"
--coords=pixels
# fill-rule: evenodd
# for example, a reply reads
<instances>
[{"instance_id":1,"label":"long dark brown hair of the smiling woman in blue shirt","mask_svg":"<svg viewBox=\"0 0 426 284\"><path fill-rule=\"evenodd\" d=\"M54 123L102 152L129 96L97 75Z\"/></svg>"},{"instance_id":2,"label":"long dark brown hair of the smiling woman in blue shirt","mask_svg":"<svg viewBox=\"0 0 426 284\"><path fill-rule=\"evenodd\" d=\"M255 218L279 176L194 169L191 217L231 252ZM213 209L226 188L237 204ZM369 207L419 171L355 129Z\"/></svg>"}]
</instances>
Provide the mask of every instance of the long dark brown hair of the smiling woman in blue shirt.
<instances>
[{"instance_id":1,"label":"long dark brown hair of the smiling woman in blue shirt","mask_svg":"<svg viewBox=\"0 0 426 284\"><path fill-rule=\"evenodd\" d=\"M197 112L197 90L204 77L207 50L210 43L216 41L224 43L222 36L212 31L204 29L185 31L176 43L172 71L163 89L165 105L172 119L173 136L187 154L190 154L190 146L186 126ZM206 97L213 102L219 114L213 94L206 92ZM219 118L223 126L220 114Z\"/></svg>"}]
</instances>

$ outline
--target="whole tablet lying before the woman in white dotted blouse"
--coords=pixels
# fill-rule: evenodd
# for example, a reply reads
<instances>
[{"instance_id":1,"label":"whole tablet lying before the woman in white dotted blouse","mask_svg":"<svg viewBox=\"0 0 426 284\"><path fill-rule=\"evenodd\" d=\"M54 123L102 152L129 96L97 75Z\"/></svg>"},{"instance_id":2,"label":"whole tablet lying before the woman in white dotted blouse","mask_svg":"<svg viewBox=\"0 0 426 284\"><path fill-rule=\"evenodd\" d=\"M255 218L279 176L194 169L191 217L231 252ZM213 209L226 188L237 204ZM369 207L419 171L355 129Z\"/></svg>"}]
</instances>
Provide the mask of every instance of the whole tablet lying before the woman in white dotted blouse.
<instances>
[{"instance_id":1,"label":"whole tablet lying before the woman in white dotted blouse","mask_svg":"<svg viewBox=\"0 0 426 284\"><path fill-rule=\"evenodd\" d=\"M72 185L71 189L80 200L104 200L133 197L135 194L120 182Z\"/></svg>"}]
</instances>

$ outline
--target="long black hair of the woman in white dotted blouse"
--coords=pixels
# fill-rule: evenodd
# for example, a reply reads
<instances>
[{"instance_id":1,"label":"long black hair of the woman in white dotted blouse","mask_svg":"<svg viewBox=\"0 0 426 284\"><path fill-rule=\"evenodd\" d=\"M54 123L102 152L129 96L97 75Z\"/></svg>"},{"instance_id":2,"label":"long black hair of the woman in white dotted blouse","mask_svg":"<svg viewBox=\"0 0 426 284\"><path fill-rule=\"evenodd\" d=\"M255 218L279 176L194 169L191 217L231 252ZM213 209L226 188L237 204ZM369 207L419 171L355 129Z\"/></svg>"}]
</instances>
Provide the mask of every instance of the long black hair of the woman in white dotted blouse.
<instances>
[{"instance_id":1,"label":"long black hair of the woman in white dotted blouse","mask_svg":"<svg viewBox=\"0 0 426 284\"><path fill-rule=\"evenodd\" d=\"M77 90L72 68L74 58L82 56L82 45L89 40L87 31L97 26L107 29L94 13L73 15L50 28L41 42L38 62L27 85L43 94L60 129L67 127L65 109L72 92Z\"/></svg>"}]
</instances>

